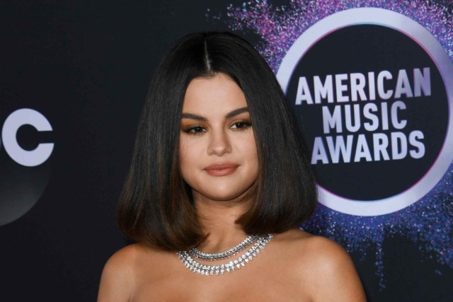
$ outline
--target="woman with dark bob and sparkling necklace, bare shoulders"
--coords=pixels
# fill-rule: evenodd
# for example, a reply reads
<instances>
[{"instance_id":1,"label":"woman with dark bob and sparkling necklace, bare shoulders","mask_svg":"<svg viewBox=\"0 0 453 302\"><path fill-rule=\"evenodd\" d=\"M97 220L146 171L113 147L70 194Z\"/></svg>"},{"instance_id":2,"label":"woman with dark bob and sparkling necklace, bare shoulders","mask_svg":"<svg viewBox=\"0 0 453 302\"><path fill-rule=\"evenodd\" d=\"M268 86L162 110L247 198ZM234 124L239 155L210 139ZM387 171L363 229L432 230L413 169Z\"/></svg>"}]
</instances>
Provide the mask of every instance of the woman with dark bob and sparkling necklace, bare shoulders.
<instances>
[{"instance_id":1,"label":"woman with dark bob and sparkling necklace, bare shoulders","mask_svg":"<svg viewBox=\"0 0 453 302\"><path fill-rule=\"evenodd\" d=\"M230 33L183 37L151 82L120 199L139 243L110 257L98 301L365 301L348 254L297 229L315 204L263 58Z\"/></svg>"}]
</instances>

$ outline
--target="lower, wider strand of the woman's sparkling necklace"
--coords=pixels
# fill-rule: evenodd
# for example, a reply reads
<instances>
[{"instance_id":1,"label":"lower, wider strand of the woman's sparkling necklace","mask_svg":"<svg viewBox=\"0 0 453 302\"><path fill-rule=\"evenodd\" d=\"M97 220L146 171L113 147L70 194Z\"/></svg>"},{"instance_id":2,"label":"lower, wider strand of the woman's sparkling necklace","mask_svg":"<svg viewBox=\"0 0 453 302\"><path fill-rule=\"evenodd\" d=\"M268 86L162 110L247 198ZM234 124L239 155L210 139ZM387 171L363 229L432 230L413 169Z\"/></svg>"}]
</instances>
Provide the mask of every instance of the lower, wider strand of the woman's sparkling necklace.
<instances>
[{"instance_id":1,"label":"lower, wider strand of the woman's sparkling necklace","mask_svg":"<svg viewBox=\"0 0 453 302\"><path fill-rule=\"evenodd\" d=\"M213 276L214 274L219 275L224 274L224 272L234 272L235 269L241 269L241 267L248 264L248 262L253 260L253 258L256 257L261 250L263 250L265 245L268 244L270 238L272 238L272 234L256 236L255 243L242 256L222 265L202 265L200 262L197 262L190 257L188 251L179 251L177 254L184 266L191 272L194 272L195 274L203 274L205 276ZM229 257L231 257L231 255Z\"/></svg>"}]
</instances>

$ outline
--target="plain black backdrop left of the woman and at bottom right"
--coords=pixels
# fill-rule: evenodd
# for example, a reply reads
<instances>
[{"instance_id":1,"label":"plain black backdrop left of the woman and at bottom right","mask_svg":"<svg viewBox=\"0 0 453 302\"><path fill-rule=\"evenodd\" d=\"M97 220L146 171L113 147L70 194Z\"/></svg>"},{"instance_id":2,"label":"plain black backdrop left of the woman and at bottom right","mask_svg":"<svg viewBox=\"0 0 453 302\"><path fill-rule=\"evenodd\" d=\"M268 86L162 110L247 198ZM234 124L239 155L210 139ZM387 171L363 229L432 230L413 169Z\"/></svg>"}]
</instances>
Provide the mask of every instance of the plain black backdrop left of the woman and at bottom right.
<instances>
[{"instance_id":1,"label":"plain black backdrop left of the woman and at bottom right","mask_svg":"<svg viewBox=\"0 0 453 302\"><path fill-rule=\"evenodd\" d=\"M55 141L42 197L20 219L0 226L0 301L96 301L105 261L129 243L115 224L115 207L151 74L178 37L226 29L205 13L224 13L228 4L0 4L2 116L38 110L52 124ZM372 249L362 261L352 255L369 301L452 301L452 269L403 238L384 240L387 286L379 290Z\"/></svg>"}]
</instances>

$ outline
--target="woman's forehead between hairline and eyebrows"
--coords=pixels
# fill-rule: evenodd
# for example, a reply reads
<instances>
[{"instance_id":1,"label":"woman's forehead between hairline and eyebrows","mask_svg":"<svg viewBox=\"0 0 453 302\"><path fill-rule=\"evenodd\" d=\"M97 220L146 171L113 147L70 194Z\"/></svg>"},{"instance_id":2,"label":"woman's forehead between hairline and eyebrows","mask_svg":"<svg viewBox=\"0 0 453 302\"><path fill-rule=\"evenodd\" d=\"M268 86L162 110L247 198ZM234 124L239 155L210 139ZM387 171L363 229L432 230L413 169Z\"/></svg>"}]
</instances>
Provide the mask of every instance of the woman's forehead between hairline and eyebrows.
<instances>
[{"instance_id":1,"label":"woman's forehead between hairline and eyebrows","mask_svg":"<svg viewBox=\"0 0 453 302\"><path fill-rule=\"evenodd\" d=\"M225 74L190 81L184 95L183 112L204 116L222 114L247 107L246 96Z\"/></svg>"}]
</instances>

